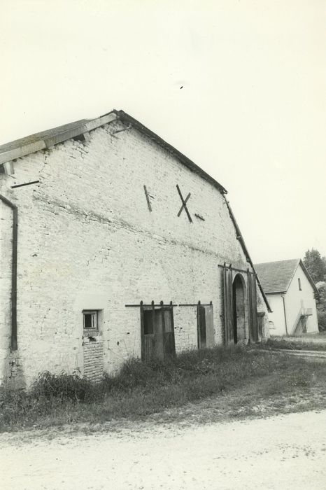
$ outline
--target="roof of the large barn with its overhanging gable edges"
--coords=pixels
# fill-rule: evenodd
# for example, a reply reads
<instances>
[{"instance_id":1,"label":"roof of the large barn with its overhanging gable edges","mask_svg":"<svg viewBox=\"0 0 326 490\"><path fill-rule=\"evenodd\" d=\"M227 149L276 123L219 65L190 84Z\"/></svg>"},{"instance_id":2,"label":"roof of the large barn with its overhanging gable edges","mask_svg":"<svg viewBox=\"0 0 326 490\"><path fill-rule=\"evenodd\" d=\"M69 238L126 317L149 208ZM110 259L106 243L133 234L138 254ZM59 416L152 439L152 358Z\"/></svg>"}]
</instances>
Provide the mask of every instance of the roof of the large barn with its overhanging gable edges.
<instances>
[{"instance_id":1,"label":"roof of the large barn with its overhanging gable edges","mask_svg":"<svg viewBox=\"0 0 326 490\"><path fill-rule=\"evenodd\" d=\"M146 136L153 139L153 141L159 144L166 151L176 156L176 158L178 158L178 160L183 163L185 167L201 176L202 179L205 179L211 183L215 188L218 188L221 193L227 194L227 190L221 186L218 181L215 181L213 177L208 175L203 169L192 162L192 160L183 155L183 153L180 153L180 151L176 150L176 148L171 146L169 143L166 143L164 139L157 136L157 134L153 133L153 131L148 130L146 126L139 123L139 121L132 118L132 116L129 116L129 114L125 113L124 111L116 111L115 109L107 114L104 114L104 116L100 116L99 118L81 119L75 121L74 123L54 127L51 130L31 134L31 136L16 139L10 143L1 145L0 172L3 172L3 163L10 162L10 160L15 160L15 158L21 158L29 155L30 153L35 153L36 151L43 150L44 148L49 148L50 146L62 143L67 139L76 138L81 134L85 134L96 129L97 127L111 123L115 119L119 119L123 123L127 123L128 125L131 125L131 127L136 128L136 130L146 134Z\"/></svg>"}]
</instances>

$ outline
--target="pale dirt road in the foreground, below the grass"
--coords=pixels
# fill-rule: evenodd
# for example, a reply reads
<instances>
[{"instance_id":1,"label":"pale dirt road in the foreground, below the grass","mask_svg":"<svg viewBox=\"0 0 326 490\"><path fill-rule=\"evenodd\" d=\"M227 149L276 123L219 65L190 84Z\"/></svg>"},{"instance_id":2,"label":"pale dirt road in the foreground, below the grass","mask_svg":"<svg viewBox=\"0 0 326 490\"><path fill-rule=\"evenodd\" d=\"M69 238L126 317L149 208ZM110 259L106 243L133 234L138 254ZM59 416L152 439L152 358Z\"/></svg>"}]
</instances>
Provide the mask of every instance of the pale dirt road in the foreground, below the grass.
<instances>
[{"instance_id":1,"label":"pale dirt road in the foreground, below the grass","mask_svg":"<svg viewBox=\"0 0 326 490\"><path fill-rule=\"evenodd\" d=\"M127 425L90 435L1 435L1 489L326 488L326 410L199 426Z\"/></svg>"}]
</instances>

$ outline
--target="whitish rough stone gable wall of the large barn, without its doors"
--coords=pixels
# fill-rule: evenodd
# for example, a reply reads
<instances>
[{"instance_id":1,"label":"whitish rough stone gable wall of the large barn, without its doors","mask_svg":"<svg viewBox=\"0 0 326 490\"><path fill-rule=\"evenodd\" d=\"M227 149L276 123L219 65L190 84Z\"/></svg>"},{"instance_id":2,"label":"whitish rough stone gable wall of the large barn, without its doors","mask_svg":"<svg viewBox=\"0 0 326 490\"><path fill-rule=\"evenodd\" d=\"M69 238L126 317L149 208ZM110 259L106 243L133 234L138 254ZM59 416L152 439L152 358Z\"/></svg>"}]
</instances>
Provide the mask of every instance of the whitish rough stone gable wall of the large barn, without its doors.
<instances>
[{"instance_id":1,"label":"whitish rough stone gable wall of the large barn, without its doors","mask_svg":"<svg viewBox=\"0 0 326 490\"><path fill-rule=\"evenodd\" d=\"M140 311L125 304L213 301L222 342L218 264L248 266L225 200L136 130L110 134L122 128L106 125L87 144L69 140L28 155L14 176L0 176L0 193L19 213L18 353L27 384L40 370L84 372L83 309L103 310L97 342L107 371L141 353ZM40 183L10 188L34 180ZM177 216L177 183L183 197L191 193L193 223L185 210ZM1 228L10 246L5 235ZM8 307L8 295L4 301ZM1 320L7 335L8 318ZM197 346L195 307L175 308L174 325L178 351Z\"/></svg>"}]
</instances>

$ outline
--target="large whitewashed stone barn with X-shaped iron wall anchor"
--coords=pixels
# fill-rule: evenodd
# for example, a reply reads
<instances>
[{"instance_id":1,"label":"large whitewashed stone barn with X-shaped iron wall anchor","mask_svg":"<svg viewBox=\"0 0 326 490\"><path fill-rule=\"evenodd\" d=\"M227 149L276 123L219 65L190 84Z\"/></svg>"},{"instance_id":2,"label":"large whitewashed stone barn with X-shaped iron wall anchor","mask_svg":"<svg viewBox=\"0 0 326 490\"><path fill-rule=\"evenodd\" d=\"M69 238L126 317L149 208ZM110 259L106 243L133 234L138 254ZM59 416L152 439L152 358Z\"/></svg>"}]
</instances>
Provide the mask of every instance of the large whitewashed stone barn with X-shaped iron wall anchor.
<instances>
[{"instance_id":1,"label":"large whitewashed stone barn with X-shaped iron wall anchor","mask_svg":"<svg viewBox=\"0 0 326 490\"><path fill-rule=\"evenodd\" d=\"M1 383L266 337L226 194L123 111L0 146Z\"/></svg>"}]
</instances>

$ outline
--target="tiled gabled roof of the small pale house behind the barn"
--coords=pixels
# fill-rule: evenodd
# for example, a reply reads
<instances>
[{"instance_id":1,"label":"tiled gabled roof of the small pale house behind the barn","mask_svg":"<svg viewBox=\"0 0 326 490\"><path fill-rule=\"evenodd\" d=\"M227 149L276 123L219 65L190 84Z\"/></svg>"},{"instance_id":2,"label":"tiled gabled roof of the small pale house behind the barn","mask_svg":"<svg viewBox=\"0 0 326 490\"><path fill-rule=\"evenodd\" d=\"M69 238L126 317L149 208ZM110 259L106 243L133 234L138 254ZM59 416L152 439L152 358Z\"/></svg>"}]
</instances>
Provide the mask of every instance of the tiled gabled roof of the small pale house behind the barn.
<instances>
[{"instance_id":1,"label":"tiled gabled roof of the small pale house behind the barn","mask_svg":"<svg viewBox=\"0 0 326 490\"><path fill-rule=\"evenodd\" d=\"M301 265L313 290L318 294L315 283L299 258L255 264L255 270L266 294L286 293L299 265Z\"/></svg>"}]
</instances>

